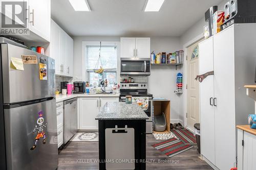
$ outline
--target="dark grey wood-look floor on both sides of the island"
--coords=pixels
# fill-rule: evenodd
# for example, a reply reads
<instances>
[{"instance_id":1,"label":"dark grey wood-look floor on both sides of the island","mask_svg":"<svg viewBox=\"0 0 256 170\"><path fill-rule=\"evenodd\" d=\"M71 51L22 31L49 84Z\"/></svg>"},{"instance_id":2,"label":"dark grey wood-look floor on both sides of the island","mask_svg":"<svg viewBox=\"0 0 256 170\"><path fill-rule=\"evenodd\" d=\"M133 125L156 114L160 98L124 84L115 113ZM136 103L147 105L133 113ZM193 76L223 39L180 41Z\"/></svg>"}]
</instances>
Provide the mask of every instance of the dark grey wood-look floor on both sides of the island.
<instances>
[{"instance_id":1,"label":"dark grey wood-look floor on both sides of the island","mask_svg":"<svg viewBox=\"0 0 256 170\"><path fill-rule=\"evenodd\" d=\"M198 158L196 146L184 153L168 158L160 154L151 145L158 141L153 135L146 135L146 159L155 159L156 162L147 163L146 169L212 169L206 162ZM81 159L81 160L78 160ZM89 162L87 159L98 159L98 142L69 142L64 149L59 151L58 170L66 169L98 169L98 163ZM158 163L158 160L179 161L179 163ZM80 161L80 162L79 162Z\"/></svg>"}]
</instances>

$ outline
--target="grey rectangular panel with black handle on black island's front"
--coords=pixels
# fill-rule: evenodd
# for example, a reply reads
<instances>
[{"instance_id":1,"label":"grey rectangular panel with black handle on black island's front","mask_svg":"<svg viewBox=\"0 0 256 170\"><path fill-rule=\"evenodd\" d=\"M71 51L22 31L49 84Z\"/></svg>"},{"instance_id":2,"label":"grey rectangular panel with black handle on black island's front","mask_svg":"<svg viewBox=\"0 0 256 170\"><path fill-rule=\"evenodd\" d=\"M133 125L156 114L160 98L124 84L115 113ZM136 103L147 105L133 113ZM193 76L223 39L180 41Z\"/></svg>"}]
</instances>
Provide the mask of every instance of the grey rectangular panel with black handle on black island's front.
<instances>
[{"instance_id":1,"label":"grey rectangular panel with black handle on black island's front","mask_svg":"<svg viewBox=\"0 0 256 170\"><path fill-rule=\"evenodd\" d=\"M134 141L134 128L105 129L106 160L114 160L113 163L106 163L106 170L135 169L134 162L118 162L135 159Z\"/></svg>"}]
</instances>

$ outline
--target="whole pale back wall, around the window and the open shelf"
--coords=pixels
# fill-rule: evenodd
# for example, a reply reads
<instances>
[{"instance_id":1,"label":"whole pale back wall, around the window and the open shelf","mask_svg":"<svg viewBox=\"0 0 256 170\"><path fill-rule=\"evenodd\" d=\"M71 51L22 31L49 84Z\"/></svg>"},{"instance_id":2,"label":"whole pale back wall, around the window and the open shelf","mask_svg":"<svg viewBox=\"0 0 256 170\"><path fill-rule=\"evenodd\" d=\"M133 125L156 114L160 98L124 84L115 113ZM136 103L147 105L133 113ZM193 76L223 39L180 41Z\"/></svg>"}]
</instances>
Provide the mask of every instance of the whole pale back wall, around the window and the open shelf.
<instances>
[{"instance_id":1,"label":"whole pale back wall, around the window and the open shelf","mask_svg":"<svg viewBox=\"0 0 256 170\"><path fill-rule=\"evenodd\" d=\"M120 37L75 36L74 39L74 79L82 80L82 41L120 41ZM151 37L151 51L155 53L172 53L181 50L180 37ZM175 66L153 66L151 76L148 77L148 92L156 98L166 98L171 101L171 120L177 122L182 119L182 95L174 93L176 89L176 75L179 69ZM85 80L83 80L85 81Z\"/></svg>"}]
</instances>

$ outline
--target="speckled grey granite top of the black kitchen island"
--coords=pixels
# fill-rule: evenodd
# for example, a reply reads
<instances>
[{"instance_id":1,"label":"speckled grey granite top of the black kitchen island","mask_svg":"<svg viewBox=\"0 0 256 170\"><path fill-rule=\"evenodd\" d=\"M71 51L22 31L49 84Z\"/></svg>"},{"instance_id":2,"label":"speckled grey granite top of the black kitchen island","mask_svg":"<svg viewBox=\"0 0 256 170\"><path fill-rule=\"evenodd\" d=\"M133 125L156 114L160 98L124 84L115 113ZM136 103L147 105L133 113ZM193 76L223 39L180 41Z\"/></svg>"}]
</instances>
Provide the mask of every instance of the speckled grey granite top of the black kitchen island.
<instances>
[{"instance_id":1,"label":"speckled grey granite top of the black kitchen island","mask_svg":"<svg viewBox=\"0 0 256 170\"><path fill-rule=\"evenodd\" d=\"M96 120L148 119L146 113L137 104L124 102L106 103L96 116Z\"/></svg>"}]
</instances>

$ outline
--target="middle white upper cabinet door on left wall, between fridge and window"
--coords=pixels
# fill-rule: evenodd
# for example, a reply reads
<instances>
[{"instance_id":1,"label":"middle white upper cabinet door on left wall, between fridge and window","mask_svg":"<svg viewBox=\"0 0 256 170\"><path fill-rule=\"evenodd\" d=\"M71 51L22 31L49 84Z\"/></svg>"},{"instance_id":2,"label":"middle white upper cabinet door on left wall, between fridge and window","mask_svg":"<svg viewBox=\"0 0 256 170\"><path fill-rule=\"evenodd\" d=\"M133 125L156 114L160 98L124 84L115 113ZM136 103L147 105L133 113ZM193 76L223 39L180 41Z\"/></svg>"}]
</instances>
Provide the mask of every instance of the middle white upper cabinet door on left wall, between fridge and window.
<instances>
[{"instance_id":1,"label":"middle white upper cabinet door on left wall, between fridge and window","mask_svg":"<svg viewBox=\"0 0 256 170\"><path fill-rule=\"evenodd\" d=\"M66 75L66 37L67 33L60 29L60 75Z\"/></svg>"}]
</instances>

